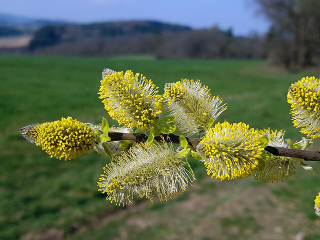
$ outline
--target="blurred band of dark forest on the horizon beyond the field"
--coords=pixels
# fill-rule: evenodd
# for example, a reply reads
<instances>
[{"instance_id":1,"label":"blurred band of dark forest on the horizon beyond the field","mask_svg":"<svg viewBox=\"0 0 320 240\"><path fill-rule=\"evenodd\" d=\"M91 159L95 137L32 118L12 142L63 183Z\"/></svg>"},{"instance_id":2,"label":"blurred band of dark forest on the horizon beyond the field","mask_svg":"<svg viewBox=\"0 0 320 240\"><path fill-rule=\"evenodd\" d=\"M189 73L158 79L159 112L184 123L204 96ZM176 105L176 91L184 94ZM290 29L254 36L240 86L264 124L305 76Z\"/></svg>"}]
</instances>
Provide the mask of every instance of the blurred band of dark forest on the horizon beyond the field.
<instances>
[{"instance_id":1,"label":"blurred band of dark forest on the horizon beyond the field","mask_svg":"<svg viewBox=\"0 0 320 240\"><path fill-rule=\"evenodd\" d=\"M193 30L156 21L58 24L39 29L29 50L67 56L153 55L157 58L265 58L264 38L234 37L218 27Z\"/></svg>"}]
</instances>

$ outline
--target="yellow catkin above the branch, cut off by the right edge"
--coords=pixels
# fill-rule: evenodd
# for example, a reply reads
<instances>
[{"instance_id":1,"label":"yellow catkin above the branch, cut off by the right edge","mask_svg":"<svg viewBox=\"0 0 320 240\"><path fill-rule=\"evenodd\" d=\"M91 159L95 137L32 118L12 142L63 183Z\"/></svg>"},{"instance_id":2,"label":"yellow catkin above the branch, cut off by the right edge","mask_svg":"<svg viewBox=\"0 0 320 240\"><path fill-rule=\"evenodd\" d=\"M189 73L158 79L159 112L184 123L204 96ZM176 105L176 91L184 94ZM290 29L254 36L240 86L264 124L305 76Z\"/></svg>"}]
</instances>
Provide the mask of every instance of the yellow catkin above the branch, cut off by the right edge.
<instances>
[{"instance_id":1,"label":"yellow catkin above the branch, cut off by the right edge","mask_svg":"<svg viewBox=\"0 0 320 240\"><path fill-rule=\"evenodd\" d=\"M319 94L319 79L307 76L291 84L287 95L294 126L300 127L300 132L312 139L320 137Z\"/></svg>"}]
</instances>

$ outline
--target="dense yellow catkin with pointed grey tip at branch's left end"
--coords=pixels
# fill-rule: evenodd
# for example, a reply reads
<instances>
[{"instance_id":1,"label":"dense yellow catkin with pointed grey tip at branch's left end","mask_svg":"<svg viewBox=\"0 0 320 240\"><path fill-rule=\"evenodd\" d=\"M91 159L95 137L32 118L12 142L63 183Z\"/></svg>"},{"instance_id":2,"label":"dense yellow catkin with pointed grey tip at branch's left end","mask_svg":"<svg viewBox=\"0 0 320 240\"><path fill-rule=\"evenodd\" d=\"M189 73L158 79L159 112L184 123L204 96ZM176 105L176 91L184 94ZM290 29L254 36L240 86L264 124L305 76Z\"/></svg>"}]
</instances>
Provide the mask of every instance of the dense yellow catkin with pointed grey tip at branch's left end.
<instances>
[{"instance_id":1,"label":"dense yellow catkin with pointed grey tip at branch's left end","mask_svg":"<svg viewBox=\"0 0 320 240\"><path fill-rule=\"evenodd\" d=\"M21 128L22 136L41 146L52 156L73 159L93 148L93 130L86 124L72 119L46 122Z\"/></svg>"}]
</instances>

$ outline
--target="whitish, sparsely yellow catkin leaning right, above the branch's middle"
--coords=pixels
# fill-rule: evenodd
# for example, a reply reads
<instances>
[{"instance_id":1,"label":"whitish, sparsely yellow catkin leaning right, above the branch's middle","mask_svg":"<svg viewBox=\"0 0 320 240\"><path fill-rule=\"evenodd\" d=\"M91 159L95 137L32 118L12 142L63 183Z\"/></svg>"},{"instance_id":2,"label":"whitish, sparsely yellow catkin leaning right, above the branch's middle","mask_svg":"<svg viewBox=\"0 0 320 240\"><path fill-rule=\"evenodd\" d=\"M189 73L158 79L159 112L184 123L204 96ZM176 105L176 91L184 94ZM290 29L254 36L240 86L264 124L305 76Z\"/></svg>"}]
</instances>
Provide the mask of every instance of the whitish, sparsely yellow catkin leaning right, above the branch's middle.
<instances>
[{"instance_id":1,"label":"whitish, sparsely yellow catkin leaning right, above the branch's middle","mask_svg":"<svg viewBox=\"0 0 320 240\"><path fill-rule=\"evenodd\" d=\"M170 115L176 116L179 131L190 135L205 135L208 124L226 110L219 96L211 96L210 89L199 80L181 79L177 83L166 84L165 101Z\"/></svg>"}]
</instances>

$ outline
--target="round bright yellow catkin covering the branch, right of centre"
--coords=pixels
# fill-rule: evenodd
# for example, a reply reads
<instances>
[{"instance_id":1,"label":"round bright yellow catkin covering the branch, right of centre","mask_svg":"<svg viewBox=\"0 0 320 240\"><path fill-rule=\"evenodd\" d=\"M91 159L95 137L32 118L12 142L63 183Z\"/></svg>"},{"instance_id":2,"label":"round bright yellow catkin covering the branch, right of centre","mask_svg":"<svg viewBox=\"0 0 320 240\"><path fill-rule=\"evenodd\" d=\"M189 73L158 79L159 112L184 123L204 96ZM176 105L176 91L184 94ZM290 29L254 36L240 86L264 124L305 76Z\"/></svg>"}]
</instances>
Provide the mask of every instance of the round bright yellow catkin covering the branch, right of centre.
<instances>
[{"instance_id":1,"label":"round bright yellow catkin covering the branch, right of centre","mask_svg":"<svg viewBox=\"0 0 320 240\"><path fill-rule=\"evenodd\" d=\"M207 174L221 180L250 175L264 150L259 132L245 123L217 123L197 146Z\"/></svg>"}]
</instances>

